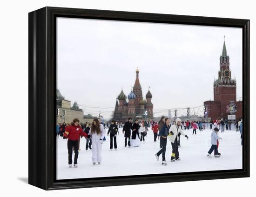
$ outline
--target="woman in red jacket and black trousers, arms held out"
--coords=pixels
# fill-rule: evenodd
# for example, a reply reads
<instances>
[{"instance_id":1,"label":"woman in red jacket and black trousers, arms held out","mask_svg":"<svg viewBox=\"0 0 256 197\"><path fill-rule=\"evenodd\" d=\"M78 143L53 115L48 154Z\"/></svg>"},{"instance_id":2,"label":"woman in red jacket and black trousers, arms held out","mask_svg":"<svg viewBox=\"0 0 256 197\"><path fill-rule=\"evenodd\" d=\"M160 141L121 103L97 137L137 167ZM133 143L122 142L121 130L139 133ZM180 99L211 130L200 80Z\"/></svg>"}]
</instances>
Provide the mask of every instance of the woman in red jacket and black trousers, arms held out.
<instances>
[{"instance_id":1,"label":"woman in red jacket and black trousers, arms held out","mask_svg":"<svg viewBox=\"0 0 256 197\"><path fill-rule=\"evenodd\" d=\"M88 134L85 133L81 126L79 125L79 119L74 118L73 123L65 128L65 133L63 138L67 140L67 150L68 150L68 164L69 167L72 167L72 149L74 146L74 167L77 167L77 158L78 158L78 148L79 148L79 139L80 136L88 137Z\"/></svg>"}]
</instances>

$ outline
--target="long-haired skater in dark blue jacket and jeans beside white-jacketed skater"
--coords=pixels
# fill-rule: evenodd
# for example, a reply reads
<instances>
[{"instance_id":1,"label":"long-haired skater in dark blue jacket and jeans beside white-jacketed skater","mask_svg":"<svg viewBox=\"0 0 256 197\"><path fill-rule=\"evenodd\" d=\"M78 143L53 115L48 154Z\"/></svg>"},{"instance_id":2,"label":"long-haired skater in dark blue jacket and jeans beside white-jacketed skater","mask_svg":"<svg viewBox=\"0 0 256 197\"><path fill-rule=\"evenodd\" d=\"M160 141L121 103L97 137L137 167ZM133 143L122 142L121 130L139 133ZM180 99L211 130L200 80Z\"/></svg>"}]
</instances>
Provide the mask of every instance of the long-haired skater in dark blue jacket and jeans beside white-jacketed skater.
<instances>
[{"instance_id":1,"label":"long-haired skater in dark blue jacket and jeans beside white-jacketed skater","mask_svg":"<svg viewBox=\"0 0 256 197\"><path fill-rule=\"evenodd\" d=\"M162 145L162 149L155 154L156 160L159 160L159 156L162 154L162 165L167 165L165 159L166 145L167 145L167 136L169 135L169 125L171 123L169 118L165 118L164 125L158 133L158 139Z\"/></svg>"}]
</instances>

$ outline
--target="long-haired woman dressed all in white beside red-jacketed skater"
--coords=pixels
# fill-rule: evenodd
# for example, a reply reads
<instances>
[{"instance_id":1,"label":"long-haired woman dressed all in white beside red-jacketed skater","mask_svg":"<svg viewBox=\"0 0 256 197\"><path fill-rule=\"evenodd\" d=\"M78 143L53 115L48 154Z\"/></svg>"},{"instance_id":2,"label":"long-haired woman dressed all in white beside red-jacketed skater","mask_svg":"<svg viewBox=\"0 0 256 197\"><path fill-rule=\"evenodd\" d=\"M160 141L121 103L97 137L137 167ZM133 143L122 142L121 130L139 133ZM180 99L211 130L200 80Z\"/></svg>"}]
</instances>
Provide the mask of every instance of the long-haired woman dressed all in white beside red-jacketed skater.
<instances>
[{"instance_id":1,"label":"long-haired woman dressed all in white beside red-jacketed skater","mask_svg":"<svg viewBox=\"0 0 256 197\"><path fill-rule=\"evenodd\" d=\"M105 137L105 129L97 118L93 120L93 124L88 134L91 136L92 141L93 164L95 165L96 162L101 164L101 150L103 138Z\"/></svg>"}]
</instances>

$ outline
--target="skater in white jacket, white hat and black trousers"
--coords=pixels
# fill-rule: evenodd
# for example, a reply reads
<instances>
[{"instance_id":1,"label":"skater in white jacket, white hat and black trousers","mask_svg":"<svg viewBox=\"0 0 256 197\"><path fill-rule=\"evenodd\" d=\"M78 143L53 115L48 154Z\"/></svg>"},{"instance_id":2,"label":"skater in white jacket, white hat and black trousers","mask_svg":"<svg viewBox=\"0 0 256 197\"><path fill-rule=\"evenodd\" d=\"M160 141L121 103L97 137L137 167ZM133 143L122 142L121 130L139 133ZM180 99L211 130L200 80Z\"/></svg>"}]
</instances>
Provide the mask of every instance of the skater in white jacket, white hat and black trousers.
<instances>
[{"instance_id":1,"label":"skater in white jacket, white hat and black trousers","mask_svg":"<svg viewBox=\"0 0 256 197\"><path fill-rule=\"evenodd\" d=\"M179 157L178 137L180 137L180 135L183 135L187 139L189 139L189 137L182 130L181 124L182 124L181 119L176 118L176 123L172 125L171 128L169 129L169 132L171 134L169 136L169 140L171 141L171 144L172 144L172 157L171 157L172 162L175 162L175 159L181 160Z\"/></svg>"}]
</instances>

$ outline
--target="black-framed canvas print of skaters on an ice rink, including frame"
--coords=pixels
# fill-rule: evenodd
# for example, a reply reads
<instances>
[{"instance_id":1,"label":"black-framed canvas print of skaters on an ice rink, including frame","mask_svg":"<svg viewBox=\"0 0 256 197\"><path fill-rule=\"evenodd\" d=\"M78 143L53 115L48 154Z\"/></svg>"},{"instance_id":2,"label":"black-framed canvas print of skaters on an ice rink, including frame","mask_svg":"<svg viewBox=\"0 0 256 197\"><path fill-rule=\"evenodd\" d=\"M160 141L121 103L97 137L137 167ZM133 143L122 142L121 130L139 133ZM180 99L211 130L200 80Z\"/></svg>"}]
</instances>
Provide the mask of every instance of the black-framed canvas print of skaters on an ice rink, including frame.
<instances>
[{"instance_id":1,"label":"black-framed canvas print of skaters on an ice rink, including frame","mask_svg":"<svg viewBox=\"0 0 256 197\"><path fill-rule=\"evenodd\" d=\"M29 13L29 184L249 177L249 20Z\"/></svg>"}]
</instances>

